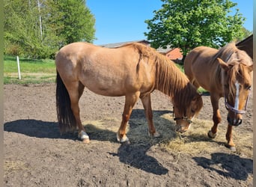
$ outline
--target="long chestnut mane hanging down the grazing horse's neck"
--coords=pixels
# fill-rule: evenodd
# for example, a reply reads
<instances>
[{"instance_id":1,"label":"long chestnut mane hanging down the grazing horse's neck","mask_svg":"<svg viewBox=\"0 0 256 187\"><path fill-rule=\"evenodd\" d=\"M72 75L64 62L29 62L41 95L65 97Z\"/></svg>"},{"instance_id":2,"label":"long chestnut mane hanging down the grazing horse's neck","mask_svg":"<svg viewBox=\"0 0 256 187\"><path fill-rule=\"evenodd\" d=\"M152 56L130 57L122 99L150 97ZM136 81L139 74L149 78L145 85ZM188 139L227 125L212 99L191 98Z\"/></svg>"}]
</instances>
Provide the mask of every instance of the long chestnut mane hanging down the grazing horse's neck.
<instances>
[{"instance_id":1,"label":"long chestnut mane hanging down the grazing horse's neck","mask_svg":"<svg viewBox=\"0 0 256 187\"><path fill-rule=\"evenodd\" d=\"M165 55L156 52L156 49L141 43L128 43L125 46L132 46L137 49L140 59L147 58L147 63L155 65L156 82L154 89L167 94L174 104L186 110L197 91L174 62Z\"/></svg>"}]
</instances>

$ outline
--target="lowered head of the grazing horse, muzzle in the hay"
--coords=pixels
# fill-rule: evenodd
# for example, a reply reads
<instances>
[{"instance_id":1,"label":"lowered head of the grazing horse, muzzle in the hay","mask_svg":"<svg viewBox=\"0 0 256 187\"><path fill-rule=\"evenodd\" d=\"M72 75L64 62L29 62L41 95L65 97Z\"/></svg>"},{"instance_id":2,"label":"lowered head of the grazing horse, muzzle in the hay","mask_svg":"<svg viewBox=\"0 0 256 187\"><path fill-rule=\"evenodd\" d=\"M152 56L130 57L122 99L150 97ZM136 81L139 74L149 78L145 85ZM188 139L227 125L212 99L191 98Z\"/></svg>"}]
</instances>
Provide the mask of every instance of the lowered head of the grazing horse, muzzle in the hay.
<instances>
[{"instance_id":1,"label":"lowered head of the grazing horse, muzzle in the hay","mask_svg":"<svg viewBox=\"0 0 256 187\"><path fill-rule=\"evenodd\" d=\"M186 106L180 108L174 102L174 120L176 120L177 132L186 132L189 129L190 124L192 123L192 118L196 114L198 114L198 112L203 107L203 100L201 94L196 93L194 97L188 99L187 103L188 104Z\"/></svg>"}]
</instances>

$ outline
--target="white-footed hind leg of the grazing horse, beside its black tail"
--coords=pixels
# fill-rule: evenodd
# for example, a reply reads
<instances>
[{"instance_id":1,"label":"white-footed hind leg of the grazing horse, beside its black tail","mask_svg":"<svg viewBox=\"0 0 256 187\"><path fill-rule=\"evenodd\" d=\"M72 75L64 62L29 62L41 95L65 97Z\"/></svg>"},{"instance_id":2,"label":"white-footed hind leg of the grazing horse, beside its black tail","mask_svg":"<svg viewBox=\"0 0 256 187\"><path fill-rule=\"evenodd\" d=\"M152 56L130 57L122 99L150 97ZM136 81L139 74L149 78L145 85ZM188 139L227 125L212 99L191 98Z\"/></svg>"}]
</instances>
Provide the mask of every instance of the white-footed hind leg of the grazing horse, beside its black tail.
<instances>
[{"instance_id":1,"label":"white-footed hind leg of the grazing horse, beside its black tail","mask_svg":"<svg viewBox=\"0 0 256 187\"><path fill-rule=\"evenodd\" d=\"M73 115L76 119L76 126L79 130L78 137L85 143L88 143L90 139L87 133L85 132L84 126L82 126L79 109L79 99L82 96L84 88L85 86L82 85L81 82L72 82L69 86L67 86L67 91L70 94L70 106L73 111Z\"/></svg>"}]
</instances>

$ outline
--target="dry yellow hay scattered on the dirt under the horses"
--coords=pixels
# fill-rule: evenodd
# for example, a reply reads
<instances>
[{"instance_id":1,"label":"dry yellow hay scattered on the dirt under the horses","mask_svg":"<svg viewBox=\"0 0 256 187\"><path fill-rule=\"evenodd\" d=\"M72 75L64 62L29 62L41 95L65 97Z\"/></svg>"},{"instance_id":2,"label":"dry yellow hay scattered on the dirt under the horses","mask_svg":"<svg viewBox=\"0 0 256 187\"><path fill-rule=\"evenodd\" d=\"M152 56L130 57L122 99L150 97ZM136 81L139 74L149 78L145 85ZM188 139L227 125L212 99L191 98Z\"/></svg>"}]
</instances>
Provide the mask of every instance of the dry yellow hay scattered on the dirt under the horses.
<instances>
[{"instance_id":1,"label":"dry yellow hay scattered on the dirt under the horses","mask_svg":"<svg viewBox=\"0 0 256 187\"><path fill-rule=\"evenodd\" d=\"M145 117L131 117L127 126L127 136L132 144L158 144L162 150L173 153L187 153L192 156L199 153L227 152L225 147L225 133L227 126L219 124L216 138L208 138L207 132L213 122L211 120L195 119L190 129L179 134L175 132L176 123L171 113L161 115L153 114L156 130L160 133L159 138L150 138L147 133L147 120ZM116 132L120 126L121 119L106 117L101 120L87 120L83 124L85 129L97 140L116 141ZM239 130L237 130L239 131ZM234 142L236 144L236 154L252 158L252 133L246 135L233 131Z\"/></svg>"}]
</instances>

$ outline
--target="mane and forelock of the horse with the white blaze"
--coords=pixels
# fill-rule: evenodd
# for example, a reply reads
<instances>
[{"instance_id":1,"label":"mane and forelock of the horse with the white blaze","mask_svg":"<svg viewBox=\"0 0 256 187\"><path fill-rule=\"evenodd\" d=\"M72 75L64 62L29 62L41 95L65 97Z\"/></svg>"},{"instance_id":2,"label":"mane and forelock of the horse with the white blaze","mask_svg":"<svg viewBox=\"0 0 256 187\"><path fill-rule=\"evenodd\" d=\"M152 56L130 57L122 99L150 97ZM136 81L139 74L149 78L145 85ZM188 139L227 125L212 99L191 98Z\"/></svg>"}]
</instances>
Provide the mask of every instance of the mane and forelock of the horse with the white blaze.
<instances>
[{"instance_id":1,"label":"mane and forelock of the horse with the white blaze","mask_svg":"<svg viewBox=\"0 0 256 187\"><path fill-rule=\"evenodd\" d=\"M234 96L234 82L236 82L237 74L240 74L239 70L243 70L243 65L252 65L252 58L250 58L243 50L238 49L234 42L228 43L219 49L216 55L213 56L211 63L214 63L216 58L221 58L222 61L225 61L229 66L231 66L231 69L228 71L228 76L230 77L230 79L228 79L228 84L229 93L231 93L231 96ZM219 66L216 69L216 75L221 75L221 71L222 68Z\"/></svg>"}]
</instances>

